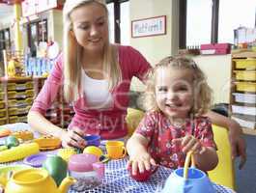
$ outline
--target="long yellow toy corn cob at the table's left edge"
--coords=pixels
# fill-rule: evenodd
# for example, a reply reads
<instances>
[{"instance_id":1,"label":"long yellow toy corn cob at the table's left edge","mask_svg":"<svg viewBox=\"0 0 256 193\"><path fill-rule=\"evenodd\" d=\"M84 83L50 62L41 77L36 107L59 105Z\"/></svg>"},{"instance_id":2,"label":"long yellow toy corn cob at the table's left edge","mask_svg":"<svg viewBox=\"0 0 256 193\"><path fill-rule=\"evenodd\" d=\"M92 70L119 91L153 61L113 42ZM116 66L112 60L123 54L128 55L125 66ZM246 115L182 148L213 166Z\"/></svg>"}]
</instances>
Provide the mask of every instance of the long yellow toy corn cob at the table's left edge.
<instances>
[{"instance_id":1,"label":"long yellow toy corn cob at the table's left edge","mask_svg":"<svg viewBox=\"0 0 256 193\"><path fill-rule=\"evenodd\" d=\"M19 160L38 152L39 145L37 143L21 144L10 150L0 152L0 163Z\"/></svg>"}]
</instances>

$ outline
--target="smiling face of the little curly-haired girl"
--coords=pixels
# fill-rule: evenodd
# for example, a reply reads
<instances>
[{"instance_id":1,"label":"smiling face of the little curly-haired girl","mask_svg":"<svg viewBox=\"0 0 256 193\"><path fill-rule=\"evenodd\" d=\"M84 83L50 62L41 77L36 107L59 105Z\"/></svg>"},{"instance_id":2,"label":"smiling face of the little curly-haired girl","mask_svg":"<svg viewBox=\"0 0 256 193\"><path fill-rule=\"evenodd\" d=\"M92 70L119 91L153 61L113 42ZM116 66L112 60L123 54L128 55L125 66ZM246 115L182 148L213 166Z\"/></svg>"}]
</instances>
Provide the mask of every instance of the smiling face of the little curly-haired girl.
<instances>
[{"instance_id":1,"label":"smiling face of the little curly-haired girl","mask_svg":"<svg viewBox=\"0 0 256 193\"><path fill-rule=\"evenodd\" d=\"M171 119L187 118L193 106L193 77L189 69L156 69L156 104Z\"/></svg>"}]
</instances>

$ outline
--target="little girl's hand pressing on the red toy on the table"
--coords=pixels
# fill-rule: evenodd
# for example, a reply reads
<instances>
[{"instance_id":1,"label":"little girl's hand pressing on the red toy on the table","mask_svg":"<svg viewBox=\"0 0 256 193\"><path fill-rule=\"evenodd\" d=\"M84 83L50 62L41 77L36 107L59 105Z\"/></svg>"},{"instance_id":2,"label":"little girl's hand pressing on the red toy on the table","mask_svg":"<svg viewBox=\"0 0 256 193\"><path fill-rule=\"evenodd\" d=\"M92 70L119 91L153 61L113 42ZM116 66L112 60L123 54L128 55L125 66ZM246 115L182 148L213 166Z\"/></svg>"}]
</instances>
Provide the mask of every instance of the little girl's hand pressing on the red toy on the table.
<instances>
[{"instance_id":1,"label":"little girl's hand pressing on the red toy on the table","mask_svg":"<svg viewBox=\"0 0 256 193\"><path fill-rule=\"evenodd\" d=\"M155 159L148 152L138 152L129 156L128 168L131 168L132 175L143 173L146 170L151 170L151 165L157 166Z\"/></svg>"}]
</instances>

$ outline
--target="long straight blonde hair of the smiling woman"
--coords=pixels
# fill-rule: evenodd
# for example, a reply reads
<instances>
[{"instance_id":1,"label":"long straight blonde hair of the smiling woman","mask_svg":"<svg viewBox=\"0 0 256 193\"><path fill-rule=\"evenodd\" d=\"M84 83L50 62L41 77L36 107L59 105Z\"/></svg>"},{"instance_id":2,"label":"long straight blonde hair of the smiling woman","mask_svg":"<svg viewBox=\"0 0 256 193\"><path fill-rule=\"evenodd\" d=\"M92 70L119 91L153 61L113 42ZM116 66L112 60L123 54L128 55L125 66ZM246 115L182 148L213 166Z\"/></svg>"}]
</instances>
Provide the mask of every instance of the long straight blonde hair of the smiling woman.
<instances>
[{"instance_id":1,"label":"long straight blonde hair of the smiling woman","mask_svg":"<svg viewBox=\"0 0 256 193\"><path fill-rule=\"evenodd\" d=\"M108 16L104 0L66 0L63 8L63 56L64 56L64 96L67 101L74 101L81 96L81 54L82 46L71 37L71 13L75 9L92 3L102 6ZM110 44L109 37L103 47L103 71L108 74L109 90L113 89L122 79L121 69L118 63L118 48Z\"/></svg>"}]
</instances>

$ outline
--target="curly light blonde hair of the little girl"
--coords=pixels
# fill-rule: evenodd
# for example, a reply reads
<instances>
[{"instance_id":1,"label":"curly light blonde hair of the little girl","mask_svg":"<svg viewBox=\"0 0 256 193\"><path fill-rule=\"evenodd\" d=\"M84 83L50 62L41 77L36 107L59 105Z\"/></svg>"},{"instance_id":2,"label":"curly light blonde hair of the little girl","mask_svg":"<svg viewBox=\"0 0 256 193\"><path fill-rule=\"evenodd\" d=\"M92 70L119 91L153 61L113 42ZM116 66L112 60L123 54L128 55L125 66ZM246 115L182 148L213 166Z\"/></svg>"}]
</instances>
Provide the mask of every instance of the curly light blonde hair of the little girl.
<instances>
[{"instance_id":1,"label":"curly light blonde hair of the little girl","mask_svg":"<svg viewBox=\"0 0 256 193\"><path fill-rule=\"evenodd\" d=\"M159 110L156 105L156 71L160 68L189 69L193 76L193 106L190 114L199 116L206 113L212 104L212 89L207 83L203 71L197 67L192 59L185 56L166 57L156 67L149 71L146 81L146 92L141 98L145 110Z\"/></svg>"}]
</instances>

